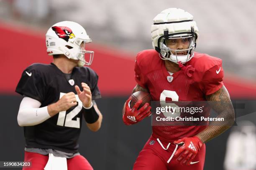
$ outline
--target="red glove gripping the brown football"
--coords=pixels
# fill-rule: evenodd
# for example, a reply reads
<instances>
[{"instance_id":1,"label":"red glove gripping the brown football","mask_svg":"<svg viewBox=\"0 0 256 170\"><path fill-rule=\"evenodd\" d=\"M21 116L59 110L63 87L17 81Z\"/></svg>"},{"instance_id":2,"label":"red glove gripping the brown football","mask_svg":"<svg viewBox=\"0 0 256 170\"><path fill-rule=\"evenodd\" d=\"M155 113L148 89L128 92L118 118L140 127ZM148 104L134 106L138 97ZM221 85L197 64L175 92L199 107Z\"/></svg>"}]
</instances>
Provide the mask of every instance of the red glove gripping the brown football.
<instances>
[{"instance_id":1,"label":"red glove gripping the brown football","mask_svg":"<svg viewBox=\"0 0 256 170\"><path fill-rule=\"evenodd\" d=\"M138 110L138 107L141 105L142 100L138 100L133 108L129 107L130 101L131 97L129 97L129 99L125 102L125 107L123 110L123 122L125 123L125 125L133 125L135 123L138 123L139 121L151 114L151 106L148 103L145 103L145 105L143 105L143 107Z\"/></svg>"}]
</instances>

